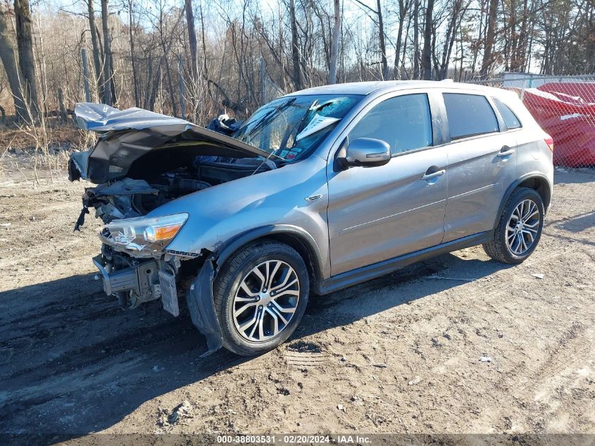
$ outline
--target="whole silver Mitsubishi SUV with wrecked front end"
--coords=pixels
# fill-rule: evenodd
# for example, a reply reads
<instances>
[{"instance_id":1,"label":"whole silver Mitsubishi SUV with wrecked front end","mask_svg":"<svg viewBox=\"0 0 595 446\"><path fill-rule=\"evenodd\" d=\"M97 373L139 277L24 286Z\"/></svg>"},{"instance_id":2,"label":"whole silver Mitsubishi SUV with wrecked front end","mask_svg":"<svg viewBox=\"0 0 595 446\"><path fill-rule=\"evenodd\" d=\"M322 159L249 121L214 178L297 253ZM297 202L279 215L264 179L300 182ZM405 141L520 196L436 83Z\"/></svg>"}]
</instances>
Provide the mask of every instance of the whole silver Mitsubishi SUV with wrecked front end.
<instances>
[{"instance_id":1,"label":"whole silver Mitsubishi SUV with wrecked front end","mask_svg":"<svg viewBox=\"0 0 595 446\"><path fill-rule=\"evenodd\" d=\"M553 142L514 92L452 82L306 89L217 132L77 104L98 132L71 180L105 223L94 263L134 308L187 299L208 352L280 345L308 295L483 244L518 264L539 242ZM207 353L208 353L207 352Z\"/></svg>"}]
</instances>

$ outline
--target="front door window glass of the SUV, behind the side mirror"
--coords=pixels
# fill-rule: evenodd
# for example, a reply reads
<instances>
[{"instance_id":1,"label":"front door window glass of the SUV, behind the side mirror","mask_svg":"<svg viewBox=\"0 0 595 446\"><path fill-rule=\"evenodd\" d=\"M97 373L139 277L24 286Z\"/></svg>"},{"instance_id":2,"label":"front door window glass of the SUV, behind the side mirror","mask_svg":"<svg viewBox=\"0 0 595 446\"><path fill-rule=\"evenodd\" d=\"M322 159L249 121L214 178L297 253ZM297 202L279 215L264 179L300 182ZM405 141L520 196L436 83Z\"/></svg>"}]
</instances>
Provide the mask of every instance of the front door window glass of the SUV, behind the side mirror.
<instances>
[{"instance_id":1,"label":"front door window glass of the SUV, behind the side mirror","mask_svg":"<svg viewBox=\"0 0 595 446\"><path fill-rule=\"evenodd\" d=\"M374 138L387 142L393 155L432 145L427 94L406 94L381 102L349 132L349 141Z\"/></svg>"}]
</instances>

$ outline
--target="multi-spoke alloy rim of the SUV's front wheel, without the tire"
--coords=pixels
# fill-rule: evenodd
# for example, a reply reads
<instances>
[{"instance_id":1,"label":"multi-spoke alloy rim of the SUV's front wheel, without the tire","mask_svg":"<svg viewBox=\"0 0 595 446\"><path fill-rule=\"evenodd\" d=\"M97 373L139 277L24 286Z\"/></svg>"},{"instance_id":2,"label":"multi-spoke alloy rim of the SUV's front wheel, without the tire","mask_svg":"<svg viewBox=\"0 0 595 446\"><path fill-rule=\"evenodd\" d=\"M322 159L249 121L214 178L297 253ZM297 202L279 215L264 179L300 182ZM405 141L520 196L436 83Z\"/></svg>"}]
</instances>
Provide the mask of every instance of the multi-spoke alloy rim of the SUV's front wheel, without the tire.
<instances>
[{"instance_id":1,"label":"multi-spoke alloy rim of the SUV's front wheel, without the tire","mask_svg":"<svg viewBox=\"0 0 595 446\"><path fill-rule=\"evenodd\" d=\"M299 285L296 271L285 261L267 260L252 268L239 284L232 306L239 335L251 342L277 336L294 316Z\"/></svg>"}]
</instances>

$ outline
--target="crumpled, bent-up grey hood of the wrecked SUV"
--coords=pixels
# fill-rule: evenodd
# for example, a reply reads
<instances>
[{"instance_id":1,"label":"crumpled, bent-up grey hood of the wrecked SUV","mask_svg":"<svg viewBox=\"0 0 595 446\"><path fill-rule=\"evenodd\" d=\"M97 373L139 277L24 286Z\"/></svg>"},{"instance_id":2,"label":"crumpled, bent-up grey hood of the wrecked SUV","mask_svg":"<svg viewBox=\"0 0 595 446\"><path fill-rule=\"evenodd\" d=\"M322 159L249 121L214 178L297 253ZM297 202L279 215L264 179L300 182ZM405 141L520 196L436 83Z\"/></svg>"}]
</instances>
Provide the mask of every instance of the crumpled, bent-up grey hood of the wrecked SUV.
<instances>
[{"instance_id":1,"label":"crumpled, bent-up grey hood of the wrecked SUV","mask_svg":"<svg viewBox=\"0 0 595 446\"><path fill-rule=\"evenodd\" d=\"M126 176L140 178L140 173L158 173L176 165L183 166L190 157L199 155L270 156L258 147L187 120L136 107L118 110L105 104L82 102L75 106L75 118L80 128L100 136L91 151L77 152L71 157L68 166L71 181L84 178L99 184ZM160 153L147 156L155 151ZM141 158L142 166L139 163L135 172L132 165Z\"/></svg>"}]
</instances>

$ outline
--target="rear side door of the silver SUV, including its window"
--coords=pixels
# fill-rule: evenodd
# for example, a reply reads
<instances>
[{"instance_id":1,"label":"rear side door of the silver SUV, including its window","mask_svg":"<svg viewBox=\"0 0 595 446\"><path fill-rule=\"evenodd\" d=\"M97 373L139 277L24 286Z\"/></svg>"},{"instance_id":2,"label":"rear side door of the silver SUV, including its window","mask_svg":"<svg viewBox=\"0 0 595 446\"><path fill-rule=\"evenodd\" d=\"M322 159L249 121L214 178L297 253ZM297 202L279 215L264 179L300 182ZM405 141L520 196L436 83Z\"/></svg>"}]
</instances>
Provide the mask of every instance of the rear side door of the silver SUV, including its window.
<instances>
[{"instance_id":1,"label":"rear side door of the silver SUV, including its window","mask_svg":"<svg viewBox=\"0 0 595 446\"><path fill-rule=\"evenodd\" d=\"M516 172L516 141L491 98L456 91L442 97L450 138L443 242L450 242L494 227L505 185Z\"/></svg>"}]
</instances>

